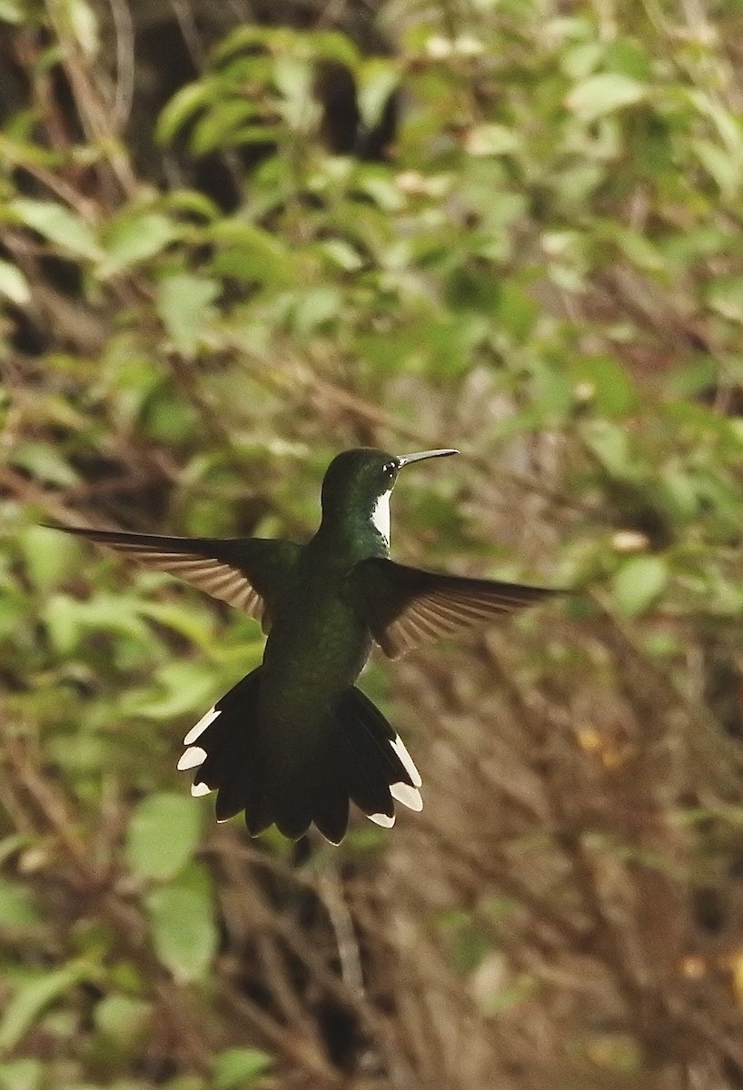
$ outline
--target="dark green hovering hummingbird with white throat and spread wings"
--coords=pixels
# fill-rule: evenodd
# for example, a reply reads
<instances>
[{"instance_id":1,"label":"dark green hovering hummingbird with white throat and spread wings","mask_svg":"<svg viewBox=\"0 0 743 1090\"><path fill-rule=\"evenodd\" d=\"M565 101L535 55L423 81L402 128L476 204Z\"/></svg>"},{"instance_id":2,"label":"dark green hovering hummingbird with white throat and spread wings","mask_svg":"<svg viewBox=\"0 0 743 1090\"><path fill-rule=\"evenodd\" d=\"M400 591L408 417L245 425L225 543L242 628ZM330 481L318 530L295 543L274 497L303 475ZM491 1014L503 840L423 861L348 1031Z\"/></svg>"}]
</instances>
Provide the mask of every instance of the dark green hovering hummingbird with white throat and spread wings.
<instances>
[{"instance_id":1,"label":"dark green hovering hummingbird with white throat and spread wings","mask_svg":"<svg viewBox=\"0 0 743 1090\"><path fill-rule=\"evenodd\" d=\"M349 800L378 825L394 801L421 810L421 776L402 739L354 685L375 643L397 658L558 593L437 574L390 555L390 493L405 465L456 450L397 456L345 450L322 481L322 518L306 544L259 537L166 537L58 526L178 576L244 609L268 633L263 664L183 739L192 794L217 791L217 821L245 811L252 836L276 824L296 839L314 822L332 844Z\"/></svg>"}]
</instances>

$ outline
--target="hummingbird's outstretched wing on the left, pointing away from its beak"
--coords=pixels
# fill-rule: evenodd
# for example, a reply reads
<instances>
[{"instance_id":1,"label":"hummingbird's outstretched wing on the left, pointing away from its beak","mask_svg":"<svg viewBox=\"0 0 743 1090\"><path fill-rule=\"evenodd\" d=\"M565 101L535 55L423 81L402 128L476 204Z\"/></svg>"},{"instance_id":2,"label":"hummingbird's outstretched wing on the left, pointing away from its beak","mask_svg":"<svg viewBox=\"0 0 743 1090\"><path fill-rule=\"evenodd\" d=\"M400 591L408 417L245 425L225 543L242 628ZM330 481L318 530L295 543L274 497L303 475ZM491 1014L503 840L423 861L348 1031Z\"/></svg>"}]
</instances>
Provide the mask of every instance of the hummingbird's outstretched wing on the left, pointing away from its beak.
<instances>
[{"instance_id":1,"label":"hummingbird's outstretched wing on the left, pointing away from its beak","mask_svg":"<svg viewBox=\"0 0 743 1090\"><path fill-rule=\"evenodd\" d=\"M166 537L86 526L52 529L87 537L148 568L184 579L199 591L244 609L265 631L302 550L294 542L264 537Z\"/></svg>"}]
</instances>

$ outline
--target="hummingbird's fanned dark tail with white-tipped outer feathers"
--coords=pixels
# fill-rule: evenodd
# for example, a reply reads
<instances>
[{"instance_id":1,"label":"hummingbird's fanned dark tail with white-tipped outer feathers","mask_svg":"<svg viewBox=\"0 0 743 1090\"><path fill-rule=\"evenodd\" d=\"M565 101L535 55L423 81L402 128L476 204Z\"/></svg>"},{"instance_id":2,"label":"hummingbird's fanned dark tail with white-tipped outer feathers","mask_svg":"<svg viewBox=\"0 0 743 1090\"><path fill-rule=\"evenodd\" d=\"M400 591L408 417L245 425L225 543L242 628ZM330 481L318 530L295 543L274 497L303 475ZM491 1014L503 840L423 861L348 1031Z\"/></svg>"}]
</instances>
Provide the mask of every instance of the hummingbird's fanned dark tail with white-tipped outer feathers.
<instances>
[{"instance_id":1,"label":"hummingbird's fanned dark tail with white-tipped outer feathers","mask_svg":"<svg viewBox=\"0 0 743 1090\"><path fill-rule=\"evenodd\" d=\"M179 768L194 768L197 795L216 790L217 820L245 811L252 836L270 825L292 839L314 822L332 844L349 824L349 801L372 821L394 823L394 801L423 806L421 776L402 740L360 689L348 689L317 738L277 760L258 716L260 667L248 674L186 735ZM268 741L276 741L269 739Z\"/></svg>"}]
</instances>

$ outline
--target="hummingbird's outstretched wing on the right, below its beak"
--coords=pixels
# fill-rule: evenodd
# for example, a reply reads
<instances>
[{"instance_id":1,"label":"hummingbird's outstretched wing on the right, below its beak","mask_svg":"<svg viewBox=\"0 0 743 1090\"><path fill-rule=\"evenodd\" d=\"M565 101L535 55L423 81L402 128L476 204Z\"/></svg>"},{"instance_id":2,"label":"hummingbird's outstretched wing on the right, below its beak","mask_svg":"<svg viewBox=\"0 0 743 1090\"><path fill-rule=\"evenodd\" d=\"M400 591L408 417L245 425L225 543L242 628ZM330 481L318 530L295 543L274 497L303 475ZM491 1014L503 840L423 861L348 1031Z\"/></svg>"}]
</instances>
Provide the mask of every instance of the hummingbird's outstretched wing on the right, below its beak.
<instances>
[{"instance_id":1,"label":"hummingbird's outstretched wing on the right, below its beak","mask_svg":"<svg viewBox=\"0 0 743 1090\"><path fill-rule=\"evenodd\" d=\"M350 591L389 658L564 593L545 586L440 576L381 557L355 566Z\"/></svg>"}]
</instances>

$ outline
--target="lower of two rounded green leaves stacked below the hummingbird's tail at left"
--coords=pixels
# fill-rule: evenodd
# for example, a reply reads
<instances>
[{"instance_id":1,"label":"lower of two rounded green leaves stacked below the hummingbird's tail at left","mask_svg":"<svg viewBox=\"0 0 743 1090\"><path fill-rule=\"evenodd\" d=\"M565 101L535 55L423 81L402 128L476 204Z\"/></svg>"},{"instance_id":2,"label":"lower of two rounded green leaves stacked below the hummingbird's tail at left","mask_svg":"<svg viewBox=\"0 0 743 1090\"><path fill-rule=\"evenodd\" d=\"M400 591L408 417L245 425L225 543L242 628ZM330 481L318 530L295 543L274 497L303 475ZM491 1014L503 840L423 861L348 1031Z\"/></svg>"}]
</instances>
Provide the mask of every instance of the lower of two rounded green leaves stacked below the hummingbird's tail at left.
<instances>
[{"instance_id":1,"label":"lower of two rounded green leaves stacked below the hummingbird's tail at left","mask_svg":"<svg viewBox=\"0 0 743 1090\"><path fill-rule=\"evenodd\" d=\"M179 983L203 980L217 953L218 934L208 891L178 885L146 899L155 953Z\"/></svg>"}]
</instances>

